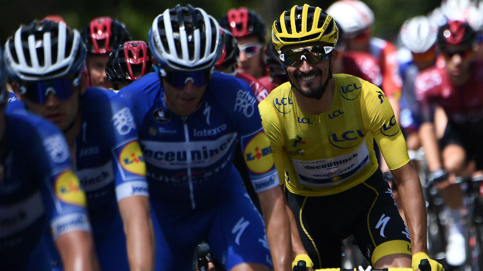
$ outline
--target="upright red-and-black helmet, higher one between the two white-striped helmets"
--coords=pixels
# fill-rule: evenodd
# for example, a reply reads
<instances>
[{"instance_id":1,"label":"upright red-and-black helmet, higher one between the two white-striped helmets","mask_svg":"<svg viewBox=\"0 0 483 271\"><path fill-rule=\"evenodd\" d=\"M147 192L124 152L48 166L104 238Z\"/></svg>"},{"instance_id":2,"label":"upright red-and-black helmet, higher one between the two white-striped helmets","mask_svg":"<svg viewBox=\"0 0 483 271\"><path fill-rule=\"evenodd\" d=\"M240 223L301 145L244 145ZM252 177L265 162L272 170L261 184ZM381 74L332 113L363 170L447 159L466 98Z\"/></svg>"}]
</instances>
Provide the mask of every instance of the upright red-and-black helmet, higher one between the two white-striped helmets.
<instances>
[{"instance_id":1,"label":"upright red-and-black helmet, higher one between the two white-striped helmets","mask_svg":"<svg viewBox=\"0 0 483 271\"><path fill-rule=\"evenodd\" d=\"M124 23L111 17L93 18L82 30L88 54L103 54L131 39Z\"/></svg>"}]
</instances>

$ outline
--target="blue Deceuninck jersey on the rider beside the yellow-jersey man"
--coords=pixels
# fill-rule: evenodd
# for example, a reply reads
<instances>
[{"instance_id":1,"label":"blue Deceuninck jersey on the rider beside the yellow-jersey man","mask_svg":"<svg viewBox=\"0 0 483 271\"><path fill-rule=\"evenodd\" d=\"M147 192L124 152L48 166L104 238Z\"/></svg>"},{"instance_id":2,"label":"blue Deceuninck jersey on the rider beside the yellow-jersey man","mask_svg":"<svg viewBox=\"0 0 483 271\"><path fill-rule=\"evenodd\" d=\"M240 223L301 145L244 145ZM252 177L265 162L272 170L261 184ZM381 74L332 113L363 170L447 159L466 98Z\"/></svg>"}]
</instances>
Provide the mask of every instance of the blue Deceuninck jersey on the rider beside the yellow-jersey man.
<instances>
[{"instance_id":1,"label":"blue Deceuninck jersey on the rider beside the yellow-jersey man","mask_svg":"<svg viewBox=\"0 0 483 271\"><path fill-rule=\"evenodd\" d=\"M169 200L194 209L208 200L206 195L227 181L237 137L255 190L279 185L257 101L243 81L214 72L200 108L186 118L167 108L155 73L119 95L131 102L140 127L153 202Z\"/></svg>"}]
</instances>

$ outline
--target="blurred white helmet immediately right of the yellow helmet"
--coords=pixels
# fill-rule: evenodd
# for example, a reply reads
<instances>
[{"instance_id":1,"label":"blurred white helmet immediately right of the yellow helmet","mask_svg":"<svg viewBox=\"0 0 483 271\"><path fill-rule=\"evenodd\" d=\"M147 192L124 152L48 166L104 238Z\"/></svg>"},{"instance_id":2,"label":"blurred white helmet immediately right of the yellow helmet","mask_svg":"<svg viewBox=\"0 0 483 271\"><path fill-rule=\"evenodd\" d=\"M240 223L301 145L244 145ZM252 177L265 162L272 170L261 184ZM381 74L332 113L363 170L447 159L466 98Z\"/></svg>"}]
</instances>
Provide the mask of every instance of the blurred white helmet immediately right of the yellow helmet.
<instances>
[{"instance_id":1,"label":"blurred white helmet immediately right of the yellow helmet","mask_svg":"<svg viewBox=\"0 0 483 271\"><path fill-rule=\"evenodd\" d=\"M338 0L327 9L334 17L338 27L346 36L353 36L370 28L374 23L374 13L371 8L359 0Z\"/></svg>"}]
</instances>

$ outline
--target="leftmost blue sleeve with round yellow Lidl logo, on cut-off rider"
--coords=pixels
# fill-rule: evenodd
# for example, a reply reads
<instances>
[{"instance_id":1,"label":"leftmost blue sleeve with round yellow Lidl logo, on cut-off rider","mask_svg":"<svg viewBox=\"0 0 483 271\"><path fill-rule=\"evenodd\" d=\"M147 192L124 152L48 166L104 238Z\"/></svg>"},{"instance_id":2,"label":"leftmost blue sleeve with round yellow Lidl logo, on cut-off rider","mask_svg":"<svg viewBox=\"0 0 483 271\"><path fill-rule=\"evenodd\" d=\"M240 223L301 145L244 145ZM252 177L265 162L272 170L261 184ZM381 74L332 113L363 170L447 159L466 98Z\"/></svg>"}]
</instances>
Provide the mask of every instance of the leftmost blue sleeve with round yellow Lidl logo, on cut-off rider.
<instances>
[{"instance_id":1,"label":"leftmost blue sleeve with round yellow Lidl logo, on cut-off rider","mask_svg":"<svg viewBox=\"0 0 483 271\"><path fill-rule=\"evenodd\" d=\"M79 179L72 170L71 156L64 135L51 122L26 112L8 115L7 118L13 120L9 123L17 125L17 127L11 127L12 129L21 129L26 133L23 134L25 140L20 138L20 142L15 146L27 148L24 150L30 149L27 159L37 162L32 169L38 172L37 176L41 182L40 197L43 203L41 205L45 209L47 220L50 221L53 237L56 239L73 231L91 231L86 210L86 196L80 188ZM19 131L16 131L16 134L19 137ZM24 204L29 205L35 201L36 196L31 197ZM24 210L33 212L42 208L41 205L30 204ZM26 217L35 216L27 214Z\"/></svg>"}]
</instances>

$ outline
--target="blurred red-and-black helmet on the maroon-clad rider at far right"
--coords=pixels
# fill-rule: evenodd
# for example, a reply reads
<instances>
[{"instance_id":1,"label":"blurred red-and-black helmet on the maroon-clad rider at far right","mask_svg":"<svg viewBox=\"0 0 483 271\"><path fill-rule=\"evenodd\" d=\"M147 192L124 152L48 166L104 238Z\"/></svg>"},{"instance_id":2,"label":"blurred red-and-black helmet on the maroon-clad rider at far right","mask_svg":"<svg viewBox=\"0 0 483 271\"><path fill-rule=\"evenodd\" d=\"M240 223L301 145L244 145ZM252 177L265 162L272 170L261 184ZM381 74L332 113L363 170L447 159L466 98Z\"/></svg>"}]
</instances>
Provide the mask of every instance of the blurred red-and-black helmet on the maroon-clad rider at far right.
<instances>
[{"instance_id":1,"label":"blurred red-and-black helmet on the maroon-clad rider at far right","mask_svg":"<svg viewBox=\"0 0 483 271\"><path fill-rule=\"evenodd\" d=\"M438 44L441 47L451 45L471 45L475 41L475 32L465 22L448 21L438 30Z\"/></svg>"}]
</instances>

